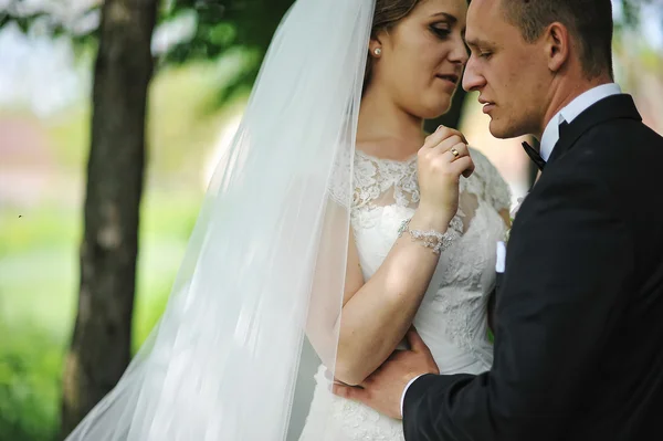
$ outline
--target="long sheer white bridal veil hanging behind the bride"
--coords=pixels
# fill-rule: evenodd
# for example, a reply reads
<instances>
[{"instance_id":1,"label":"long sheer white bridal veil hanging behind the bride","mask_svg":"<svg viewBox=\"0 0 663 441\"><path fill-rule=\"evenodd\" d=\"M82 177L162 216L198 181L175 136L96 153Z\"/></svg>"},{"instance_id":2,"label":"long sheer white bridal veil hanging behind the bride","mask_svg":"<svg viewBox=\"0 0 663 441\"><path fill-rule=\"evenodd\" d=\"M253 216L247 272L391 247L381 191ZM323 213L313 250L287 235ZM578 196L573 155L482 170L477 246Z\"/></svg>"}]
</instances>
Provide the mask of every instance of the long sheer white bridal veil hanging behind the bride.
<instances>
[{"instance_id":1,"label":"long sheer white bridal veil hanging behind the bride","mask_svg":"<svg viewBox=\"0 0 663 441\"><path fill-rule=\"evenodd\" d=\"M291 8L161 321L69 441L297 439L320 360L333 379L372 14Z\"/></svg>"}]
</instances>

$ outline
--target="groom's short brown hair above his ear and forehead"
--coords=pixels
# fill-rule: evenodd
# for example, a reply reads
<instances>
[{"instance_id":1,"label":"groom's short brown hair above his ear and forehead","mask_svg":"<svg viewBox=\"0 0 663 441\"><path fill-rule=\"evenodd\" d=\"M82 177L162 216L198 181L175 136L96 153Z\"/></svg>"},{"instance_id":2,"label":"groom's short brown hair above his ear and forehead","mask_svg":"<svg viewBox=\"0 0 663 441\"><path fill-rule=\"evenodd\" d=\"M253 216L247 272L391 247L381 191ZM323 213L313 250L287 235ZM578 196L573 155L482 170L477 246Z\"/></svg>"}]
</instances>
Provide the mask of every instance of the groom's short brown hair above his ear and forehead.
<instances>
[{"instance_id":1,"label":"groom's short brown hair above his ear and forehead","mask_svg":"<svg viewBox=\"0 0 663 441\"><path fill-rule=\"evenodd\" d=\"M610 0L502 0L507 21L525 41L536 41L554 22L569 29L580 44L585 74L612 76L612 2Z\"/></svg>"}]
</instances>

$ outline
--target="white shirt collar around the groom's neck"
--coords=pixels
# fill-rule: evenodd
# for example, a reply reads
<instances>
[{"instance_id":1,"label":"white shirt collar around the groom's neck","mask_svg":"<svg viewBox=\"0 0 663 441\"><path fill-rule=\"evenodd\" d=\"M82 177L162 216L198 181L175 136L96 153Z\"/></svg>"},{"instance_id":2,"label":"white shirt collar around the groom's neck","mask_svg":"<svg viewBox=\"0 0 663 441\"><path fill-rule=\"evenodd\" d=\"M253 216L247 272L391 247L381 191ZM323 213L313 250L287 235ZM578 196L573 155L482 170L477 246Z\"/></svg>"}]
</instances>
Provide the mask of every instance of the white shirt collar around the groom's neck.
<instances>
[{"instance_id":1,"label":"white shirt collar around the groom's neck","mask_svg":"<svg viewBox=\"0 0 663 441\"><path fill-rule=\"evenodd\" d=\"M552 119L546 126L544 135L541 136L541 158L548 160L555 145L559 140L559 125L564 122L571 124L573 119L578 117L582 112L587 111L588 107L598 103L599 101L607 98L611 95L621 94L621 88L615 83L601 84L600 86L590 88L589 91L580 94L567 106L559 111Z\"/></svg>"}]
</instances>

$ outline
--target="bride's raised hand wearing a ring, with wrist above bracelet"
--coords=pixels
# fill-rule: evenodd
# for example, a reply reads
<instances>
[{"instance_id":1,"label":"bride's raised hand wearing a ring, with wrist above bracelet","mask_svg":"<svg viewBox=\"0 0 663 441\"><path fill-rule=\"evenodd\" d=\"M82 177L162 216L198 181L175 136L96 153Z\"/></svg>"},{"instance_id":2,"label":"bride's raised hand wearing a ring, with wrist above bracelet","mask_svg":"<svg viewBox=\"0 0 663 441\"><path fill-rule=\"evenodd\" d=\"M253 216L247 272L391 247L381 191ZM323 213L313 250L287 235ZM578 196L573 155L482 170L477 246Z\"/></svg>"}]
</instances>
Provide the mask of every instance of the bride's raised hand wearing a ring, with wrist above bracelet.
<instances>
[{"instance_id":1,"label":"bride's raised hand wearing a ring, with wrist above bracelet","mask_svg":"<svg viewBox=\"0 0 663 441\"><path fill-rule=\"evenodd\" d=\"M459 181L470 177L474 162L462 133L440 126L419 150L420 216L446 228L459 209Z\"/></svg>"}]
</instances>

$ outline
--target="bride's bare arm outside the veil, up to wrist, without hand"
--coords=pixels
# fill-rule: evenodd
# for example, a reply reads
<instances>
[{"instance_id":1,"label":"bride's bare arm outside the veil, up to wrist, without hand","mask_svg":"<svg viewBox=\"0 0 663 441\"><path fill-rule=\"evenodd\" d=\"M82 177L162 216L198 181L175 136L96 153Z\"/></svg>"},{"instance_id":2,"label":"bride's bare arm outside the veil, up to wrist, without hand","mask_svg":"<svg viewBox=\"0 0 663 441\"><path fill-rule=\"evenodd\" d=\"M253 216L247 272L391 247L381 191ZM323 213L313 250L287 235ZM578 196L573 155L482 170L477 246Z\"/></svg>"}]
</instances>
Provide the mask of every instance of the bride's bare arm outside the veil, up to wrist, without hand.
<instances>
[{"instance_id":1,"label":"bride's bare arm outside the veil, up to wrist, without hand","mask_svg":"<svg viewBox=\"0 0 663 441\"><path fill-rule=\"evenodd\" d=\"M412 230L446 231L444 219L418 211ZM373 276L364 283L352 232L348 244L346 284L338 329L335 377L357 385L393 353L412 325L423 294L433 276L439 255L399 238Z\"/></svg>"}]
</instances>

